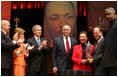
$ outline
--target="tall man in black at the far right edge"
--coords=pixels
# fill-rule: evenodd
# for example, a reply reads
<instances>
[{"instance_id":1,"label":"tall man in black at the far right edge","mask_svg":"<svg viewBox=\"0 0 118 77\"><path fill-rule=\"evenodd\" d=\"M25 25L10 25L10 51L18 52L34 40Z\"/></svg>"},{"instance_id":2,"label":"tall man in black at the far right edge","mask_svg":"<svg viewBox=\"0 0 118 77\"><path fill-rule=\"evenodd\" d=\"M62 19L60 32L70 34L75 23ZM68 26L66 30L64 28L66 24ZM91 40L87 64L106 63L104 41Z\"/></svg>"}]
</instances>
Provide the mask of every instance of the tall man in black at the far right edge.
<instances>
[{"instance_id":1,"label":"tall man in black at the far right edge","mask_svg":"<svg viewBox=\"0 0 118 77\"><path fill-rule=\"evenodd\" d=\"M110 22L108 33L104 39L102 51L102 66L105 68L107 75L117 75L117 16L114 8L105 9L105 14Z\"/></svg>"}]
</instances>

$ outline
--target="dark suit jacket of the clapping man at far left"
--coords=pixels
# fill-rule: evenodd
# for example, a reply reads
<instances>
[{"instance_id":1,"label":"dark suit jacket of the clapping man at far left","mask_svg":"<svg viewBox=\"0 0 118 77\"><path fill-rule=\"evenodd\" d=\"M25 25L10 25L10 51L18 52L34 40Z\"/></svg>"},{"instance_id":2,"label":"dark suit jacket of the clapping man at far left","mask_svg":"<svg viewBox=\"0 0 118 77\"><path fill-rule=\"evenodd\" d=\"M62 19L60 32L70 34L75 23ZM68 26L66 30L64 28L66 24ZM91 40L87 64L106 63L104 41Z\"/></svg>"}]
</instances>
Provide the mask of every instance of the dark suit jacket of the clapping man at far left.
<instances>
[{"instance_id":1,"label":"dark suit jacket of the clapping man at far left","mask_svg":"<svg viewBox=\"0 0 118 77\"><path fill-rule=\"evenodd\" d=\"M12 69L13 50L17 48L12 40L1 31L1 69Z\"/></svg>"}]
</instances>

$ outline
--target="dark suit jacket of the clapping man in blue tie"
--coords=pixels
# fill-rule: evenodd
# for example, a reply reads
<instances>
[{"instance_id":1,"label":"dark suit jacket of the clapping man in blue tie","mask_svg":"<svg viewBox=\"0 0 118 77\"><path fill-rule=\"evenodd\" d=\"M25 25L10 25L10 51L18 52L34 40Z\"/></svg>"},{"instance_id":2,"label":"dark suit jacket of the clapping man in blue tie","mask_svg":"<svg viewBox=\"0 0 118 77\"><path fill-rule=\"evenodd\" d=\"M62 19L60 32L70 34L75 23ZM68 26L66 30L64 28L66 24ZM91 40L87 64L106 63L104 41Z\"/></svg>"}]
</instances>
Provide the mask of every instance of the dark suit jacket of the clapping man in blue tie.
<instances>
[{"instance_id":1,"label":"dark suit jacket of the clapping man in blue tie","mask_svg":"<svg viewBox=\"0 0 118 77\"><path fill-rule=\"evenodd\" d=\"M40 38L40 40L42 43L42 41L45 39ZM50 52L49 51L49 45L47 45L46 49L43 48L39 51L37 41L35 40L34 37L29 38L26 42L30 43L31 45L35 45L35 48L33 50L29 51L29 57L28 57L29 71L47 72L46 54Z\"/></svg>"}]
</instances>

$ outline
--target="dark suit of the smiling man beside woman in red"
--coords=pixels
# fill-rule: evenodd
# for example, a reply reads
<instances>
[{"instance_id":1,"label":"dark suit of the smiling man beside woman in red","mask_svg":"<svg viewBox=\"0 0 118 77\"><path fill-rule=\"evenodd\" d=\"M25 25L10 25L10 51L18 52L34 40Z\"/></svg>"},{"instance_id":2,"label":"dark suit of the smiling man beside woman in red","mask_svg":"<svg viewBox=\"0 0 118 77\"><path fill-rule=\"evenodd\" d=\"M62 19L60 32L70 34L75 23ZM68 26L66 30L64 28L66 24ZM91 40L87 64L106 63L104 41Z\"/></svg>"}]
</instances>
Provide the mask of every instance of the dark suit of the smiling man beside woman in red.
<instances>
[{"instance_id":1,"label":"dark suit of the smiling man beside woman in red","mask_svg":"<svg viewBox=\"0 0 118 77\"><path fill-rule=\"evenodd\" d=\"M98 44L97 47L94 49L94 54L93 54L93 72L95 76L99 75L104 75L104 69L101 66L101 61L102 61L102 56L103 52L101 51L101 46L104 41L104 38L102 38ZM95 44L96 46L96 44Z\"/></svg>"}]
</instances>

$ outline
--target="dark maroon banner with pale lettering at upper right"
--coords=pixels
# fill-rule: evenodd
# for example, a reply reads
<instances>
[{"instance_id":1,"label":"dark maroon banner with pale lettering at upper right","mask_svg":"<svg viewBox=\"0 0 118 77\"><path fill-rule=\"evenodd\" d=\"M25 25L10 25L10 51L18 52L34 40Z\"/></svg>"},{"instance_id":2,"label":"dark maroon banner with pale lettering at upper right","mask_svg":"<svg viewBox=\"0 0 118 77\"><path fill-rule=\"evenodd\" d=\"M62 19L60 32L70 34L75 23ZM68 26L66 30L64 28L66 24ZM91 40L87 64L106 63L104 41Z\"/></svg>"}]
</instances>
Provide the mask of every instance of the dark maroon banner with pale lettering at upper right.
<instances>
[{"instance_id":1,"label":"dark maroon banner with pale lettering at upper right","mask_svg":"<svg viewBox=\"0 0 118 77\"><path fill-rule=\"evenodd\" d=\"M87 30L92 32L93 27L100 25L104 32L109 28L104 10L107 7L117 9L117 1L88 1L87 2Z\"/></svg>"}]
</instances>

